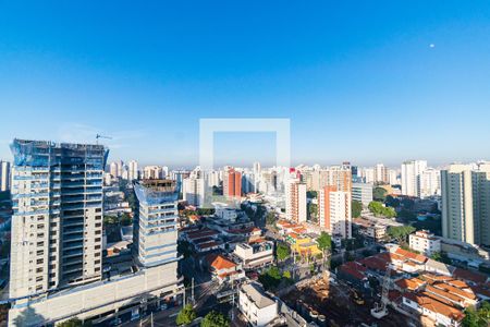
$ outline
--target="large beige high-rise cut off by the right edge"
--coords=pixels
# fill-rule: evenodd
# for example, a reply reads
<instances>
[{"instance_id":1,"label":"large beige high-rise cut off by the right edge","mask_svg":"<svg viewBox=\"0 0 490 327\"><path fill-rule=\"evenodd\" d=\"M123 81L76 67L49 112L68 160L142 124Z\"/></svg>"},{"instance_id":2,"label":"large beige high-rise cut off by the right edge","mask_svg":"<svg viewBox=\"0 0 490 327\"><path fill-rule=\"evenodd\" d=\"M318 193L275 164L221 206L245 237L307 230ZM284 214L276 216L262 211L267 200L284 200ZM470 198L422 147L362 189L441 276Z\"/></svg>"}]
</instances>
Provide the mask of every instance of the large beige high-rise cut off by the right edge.
<instances>
[{"instance_id":1,"label":"large beige high-rise cut off by the right edge","mask_svg":"<svg viewBox=\"0 0 490 327\"><path fill-rule=\"evenodd\" d=\"M441 171L442 235L490 245L490 164L451 165Z\"/></svg>"}]
</instances>

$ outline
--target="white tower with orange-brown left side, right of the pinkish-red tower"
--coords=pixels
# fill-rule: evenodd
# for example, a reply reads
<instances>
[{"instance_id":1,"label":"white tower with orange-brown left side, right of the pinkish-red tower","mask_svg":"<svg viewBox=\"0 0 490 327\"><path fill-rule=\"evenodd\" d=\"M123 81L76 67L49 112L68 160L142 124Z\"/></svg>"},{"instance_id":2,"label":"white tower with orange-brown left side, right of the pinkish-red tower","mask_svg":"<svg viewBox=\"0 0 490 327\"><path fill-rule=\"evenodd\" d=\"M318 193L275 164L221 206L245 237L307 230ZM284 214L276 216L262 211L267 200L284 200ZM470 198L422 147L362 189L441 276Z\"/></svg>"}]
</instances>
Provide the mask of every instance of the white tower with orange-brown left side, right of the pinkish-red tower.
<instances>
[{"instance_id":1,"label":"white tower with orange-brown left side, right of the pinkish-red tower","mask_svg":"<svg viewBox=\"0 0 490 327\"><path fill-rule=\"evenodd\" d=\"M338 191L336 186L324 186L318 196L320 227L331 235L352 238L351 193Z\"/></svg>"}]
</instances>

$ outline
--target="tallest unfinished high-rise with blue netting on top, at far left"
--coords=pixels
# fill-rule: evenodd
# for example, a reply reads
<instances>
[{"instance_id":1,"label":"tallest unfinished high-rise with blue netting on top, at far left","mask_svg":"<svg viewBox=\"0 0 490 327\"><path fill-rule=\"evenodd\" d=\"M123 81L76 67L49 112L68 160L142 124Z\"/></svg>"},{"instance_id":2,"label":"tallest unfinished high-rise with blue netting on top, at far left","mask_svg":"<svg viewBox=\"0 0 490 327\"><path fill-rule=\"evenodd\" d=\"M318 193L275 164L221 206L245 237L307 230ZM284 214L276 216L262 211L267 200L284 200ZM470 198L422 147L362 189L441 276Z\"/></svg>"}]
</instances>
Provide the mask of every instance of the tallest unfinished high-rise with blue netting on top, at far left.
<instances>
[{"instance_id":1,"label":"tallest unfinished high-rise with blue netting on top, at far left","mask_svg":"<svg viewBox=\"0 0 490 327\"><path fill-rule=\"evenodd\" d=\"M101 145L14 140L10 296L101 278Z\"/></svg>"}]
</instances>

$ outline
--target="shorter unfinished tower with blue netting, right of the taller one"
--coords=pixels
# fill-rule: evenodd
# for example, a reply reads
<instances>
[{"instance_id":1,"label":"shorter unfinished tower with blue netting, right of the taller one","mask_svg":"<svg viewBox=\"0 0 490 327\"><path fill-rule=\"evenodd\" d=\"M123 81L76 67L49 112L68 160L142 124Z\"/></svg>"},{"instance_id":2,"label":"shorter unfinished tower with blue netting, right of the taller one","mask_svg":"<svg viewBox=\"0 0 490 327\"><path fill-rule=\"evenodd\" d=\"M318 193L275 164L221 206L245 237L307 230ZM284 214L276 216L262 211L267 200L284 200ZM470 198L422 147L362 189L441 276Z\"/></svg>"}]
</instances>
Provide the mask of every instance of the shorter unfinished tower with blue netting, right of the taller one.
<instances>
[{"instance_id":1,"label":"shorter unfinished tower with blue netting, right of the taller one","mask_svg":"<svg viewBox=\"0 0 490 327\"><path fill-rule=\"evenodd\" d=\"M169 265L166 282L177 280L177 199L175 181L143 180L134 183L138 210L134 220L134 249L144 267Z\"/></svg>"}]
</instances>

